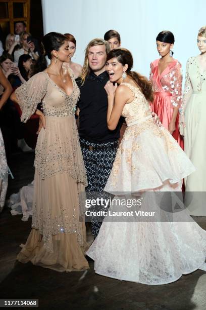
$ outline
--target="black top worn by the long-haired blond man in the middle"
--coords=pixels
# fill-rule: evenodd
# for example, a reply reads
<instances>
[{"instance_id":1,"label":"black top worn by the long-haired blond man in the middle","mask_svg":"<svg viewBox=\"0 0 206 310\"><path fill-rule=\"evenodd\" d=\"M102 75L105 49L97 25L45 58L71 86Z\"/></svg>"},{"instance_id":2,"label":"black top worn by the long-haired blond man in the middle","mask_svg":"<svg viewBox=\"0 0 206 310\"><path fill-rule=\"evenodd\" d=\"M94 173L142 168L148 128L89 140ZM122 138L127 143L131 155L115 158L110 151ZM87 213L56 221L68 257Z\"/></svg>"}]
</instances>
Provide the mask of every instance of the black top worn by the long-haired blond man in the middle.
<instances>
[{"instance_id":1,"label":"black top worn by the long-haired blond man in the middle","mask_svg":"<svg viewBox=\"0 0 206 310\"><path fill-rule=\"evenodd\" d=\"M107 126L108 97L105 84L109 80L107 71L98 76L90 72L83 85L80 78L76 79L80 89L78 101L79 136L90 142L105 143L119 139L122 120L115 130Z\"/></svg>"}]
</instances>

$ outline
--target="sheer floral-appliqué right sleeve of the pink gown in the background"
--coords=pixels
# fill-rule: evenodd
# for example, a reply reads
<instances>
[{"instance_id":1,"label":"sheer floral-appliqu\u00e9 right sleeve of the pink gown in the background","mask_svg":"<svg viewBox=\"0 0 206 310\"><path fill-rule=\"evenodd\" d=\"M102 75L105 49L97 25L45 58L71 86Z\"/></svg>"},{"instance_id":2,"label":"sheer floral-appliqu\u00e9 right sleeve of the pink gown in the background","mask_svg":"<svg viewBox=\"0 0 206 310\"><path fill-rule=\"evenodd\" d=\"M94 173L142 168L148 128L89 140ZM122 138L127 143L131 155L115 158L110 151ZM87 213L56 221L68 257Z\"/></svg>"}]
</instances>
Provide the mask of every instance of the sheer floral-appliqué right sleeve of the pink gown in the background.
<instances>
[{"instance_id":1,"label":"sheer floral-appliqu\u00e9 right sleeve of the pink gown in the background","mask_svg":"<svg viewBox=\"0 0 206 310\"><path fill-rule=\"evenodd\" d=\"M172 98L171 105L173 108L180 107L182 104L182 66L178 62L171 72L171 88L172 88Z\"/></svg>"}]
</instances>

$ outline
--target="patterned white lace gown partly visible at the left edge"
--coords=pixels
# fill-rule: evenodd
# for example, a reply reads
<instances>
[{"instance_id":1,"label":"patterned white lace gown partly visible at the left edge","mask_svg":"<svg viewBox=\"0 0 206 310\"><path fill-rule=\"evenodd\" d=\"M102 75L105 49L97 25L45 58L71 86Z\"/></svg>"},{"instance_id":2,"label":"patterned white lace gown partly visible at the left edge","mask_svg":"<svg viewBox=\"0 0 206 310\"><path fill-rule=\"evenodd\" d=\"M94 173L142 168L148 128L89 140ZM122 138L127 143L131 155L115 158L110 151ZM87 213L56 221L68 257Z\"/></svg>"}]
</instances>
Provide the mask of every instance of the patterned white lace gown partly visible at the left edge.
<instances>
[{"instance_id":1,"label":"patterned white lace gown partly visible at the left edge","mask_svg":"<svg viewBox=\"0 0 206 310\"><path fill-rule=\"evenodd\" d=\"M4 140L0 129L0 212L2 211L8 186L8 166L4 147Z\"/></svg>"}]
</instances>

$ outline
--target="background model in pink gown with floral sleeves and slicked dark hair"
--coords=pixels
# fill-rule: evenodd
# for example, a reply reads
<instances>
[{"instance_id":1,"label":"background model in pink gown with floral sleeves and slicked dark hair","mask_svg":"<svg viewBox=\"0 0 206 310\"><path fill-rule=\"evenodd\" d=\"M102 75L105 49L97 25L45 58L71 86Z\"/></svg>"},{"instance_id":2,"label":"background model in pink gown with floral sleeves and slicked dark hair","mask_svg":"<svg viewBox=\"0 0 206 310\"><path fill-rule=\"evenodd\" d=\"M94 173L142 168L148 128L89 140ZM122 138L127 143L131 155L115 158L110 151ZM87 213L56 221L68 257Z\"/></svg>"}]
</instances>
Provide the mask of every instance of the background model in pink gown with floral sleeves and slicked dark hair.
<instances>
[{"instance_id":1,"label":"background model in pink gown with floral sleeves and slicked dark hair","mask_svg":"<svg viewBox=\"0 0 206 310\"><path fill-rule=\"evenodd\" d=\"M183 139L178 130L179 107L182 104L182 66L173 58L175 38L172 32L161 31L156 42L161 58L150 63L150 81L154 91L151 111L158 114L163 126L183 148Z\"/></svg>"}]
</instances>

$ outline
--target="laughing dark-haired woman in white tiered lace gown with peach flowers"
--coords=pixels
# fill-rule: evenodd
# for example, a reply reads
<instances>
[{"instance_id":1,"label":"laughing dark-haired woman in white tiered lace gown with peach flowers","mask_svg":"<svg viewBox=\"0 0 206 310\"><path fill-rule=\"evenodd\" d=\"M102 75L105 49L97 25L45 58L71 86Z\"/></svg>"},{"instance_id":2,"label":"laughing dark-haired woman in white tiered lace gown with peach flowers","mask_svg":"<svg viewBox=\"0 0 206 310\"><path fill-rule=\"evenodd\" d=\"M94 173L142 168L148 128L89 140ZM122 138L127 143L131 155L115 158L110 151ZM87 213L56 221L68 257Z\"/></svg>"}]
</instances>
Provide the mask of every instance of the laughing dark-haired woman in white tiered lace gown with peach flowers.
<instances>
[{"instance_id":1,"label":"laughing dark-haired woman in white tiered lace gown with peach flowers","mask_svg":"<svg viewBox=\"0 0 206 310\"><path fill-rule=\"evenodd\" d=\"M161 221L157 191L181 191L182 179L195 169L177 141L164 127L151 120L148 101L152 87L143 76L131 71L132 55L117 49L108 55L108 127L114 130L122 115L127 129L119 146L108 192L141 192L153 201L154 221L107 221L87 251L97 274L143 284L166 284L205 268L206 231L183 209L173 221ZM123 82L123 83L121 83ZM148 100L148 101L147 101ZM162 192L162 194L161 194ZM141 197L141 196L140 196ZM150 201L151 202L151 201ZM150 206L150 207L151 207ZM167 207L167 205L165 205ZM127 221L126 221L127 220Z\"/></svg>"}]
</instances>

